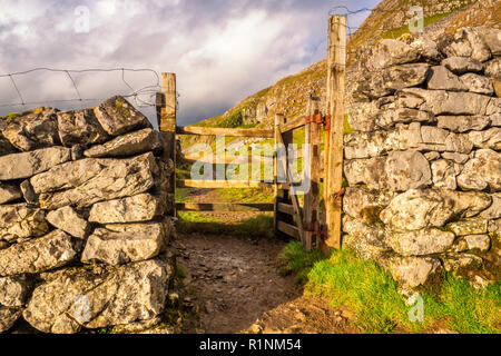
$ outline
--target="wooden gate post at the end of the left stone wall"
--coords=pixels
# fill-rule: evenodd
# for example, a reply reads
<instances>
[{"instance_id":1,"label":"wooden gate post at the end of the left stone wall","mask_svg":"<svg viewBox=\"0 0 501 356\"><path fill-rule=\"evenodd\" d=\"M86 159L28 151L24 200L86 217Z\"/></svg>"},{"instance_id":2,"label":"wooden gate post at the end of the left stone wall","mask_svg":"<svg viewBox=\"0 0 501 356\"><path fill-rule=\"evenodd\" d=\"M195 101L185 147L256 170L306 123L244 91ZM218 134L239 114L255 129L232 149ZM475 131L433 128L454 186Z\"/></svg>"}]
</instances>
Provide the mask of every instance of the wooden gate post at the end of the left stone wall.
<instances>
[{"instance_id":1,"label":"wooden gate post at the end of the left stone wall","mask_svg":"<svg viewBox=\"0 0 501 356\"><path fill-rule=\"evenodd\" d=\"M177 91L176 91L176 75L161 73L161 92L157 97L157 120L158 129L163 132L166 140L165 158L170 158L176 167L176 111L177 111ZM170 179L170 187L168 194L175 196L176 194L176 169ZM173 200L175 198L173 197ZM176 216L176 205L173 207L173 216Z\"/></svg>"}]
</instances>

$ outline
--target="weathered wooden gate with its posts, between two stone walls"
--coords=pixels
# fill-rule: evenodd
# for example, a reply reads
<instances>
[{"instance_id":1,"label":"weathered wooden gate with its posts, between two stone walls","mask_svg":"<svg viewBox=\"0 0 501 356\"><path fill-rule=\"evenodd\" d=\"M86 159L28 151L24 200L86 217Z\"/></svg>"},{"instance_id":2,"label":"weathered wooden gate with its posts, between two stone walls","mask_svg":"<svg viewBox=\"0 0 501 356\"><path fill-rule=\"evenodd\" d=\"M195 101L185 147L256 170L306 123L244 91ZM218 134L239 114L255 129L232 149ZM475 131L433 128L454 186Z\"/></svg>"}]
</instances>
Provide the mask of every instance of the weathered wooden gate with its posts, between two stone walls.
<instances>
[{"instance_id":1,"label":"weathered wooden gate with its posts, between two stone walls","mask_svg":"<svg viewBox=\"0 0 501 356\"><path fill-rule=\"evenodd\" d=\"M343 181L343 129L344 129L344 77L346 60L346 17L333 16L328 21L327 51L327 112L320 112L320 100L308 98L304 116L287 120L283 115L276 115L273 130L266 129L233 129L208 127L181 127L176 125L176 76L163 73L161 92L157 95L157 117L160 131L166 136L169 155L176 164L176 135L225 136L273 138L275 154L273 155L274 181L236 181L236 180L177 180L174 174L170 192L176 187L183 188L261 188L274 186L275 199L268 204L245 202L207 202L176 204L177 210L193 211L274 211L274 228L277 234L285 234L303 243L305 250L315 247L341 247L341 211ZM299 204L295 194L296 182L293 179L288 159L279 159L277 147L293 144L293 131L305 127L305 144L310 145L308 157L303 158L303 180L310 179L310 189L304 194L304 204ZM324 139L324 169L321 172L322 129ZM286 150L286 156L291 151ZM235 157L213 157L212 165L234 162ZM252 159L252 157L250 157ZM285 181L278 181L278 171L285 172ZM321 199L321 184L324 194ZM321 207L321 200L324 201Z\"/></svg>"}]
</instances>

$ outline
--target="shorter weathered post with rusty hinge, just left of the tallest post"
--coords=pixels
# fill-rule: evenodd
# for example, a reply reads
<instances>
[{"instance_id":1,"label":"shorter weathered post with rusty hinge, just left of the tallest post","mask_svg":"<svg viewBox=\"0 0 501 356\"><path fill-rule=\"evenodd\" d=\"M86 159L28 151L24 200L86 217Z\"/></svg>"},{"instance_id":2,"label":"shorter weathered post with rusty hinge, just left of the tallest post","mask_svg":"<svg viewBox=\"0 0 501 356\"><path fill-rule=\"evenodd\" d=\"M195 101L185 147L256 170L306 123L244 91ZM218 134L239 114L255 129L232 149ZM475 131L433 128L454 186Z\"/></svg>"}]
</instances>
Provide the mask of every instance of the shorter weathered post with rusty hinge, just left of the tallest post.
<instances>
[{"instance_id":1,"label":"shorter weathered post with rusty hinge, just left of the tallest post","mask_svg":"<svg viewBox=\"0 0 501 356\"><path fill-rule=\"evenodd\" d=\"M310 191L305 192L304 197L304 249L311 251L317 245L318 224L318 205L320 205L320 144L322 141L320 123L322 117L320 116L318 100L314 98L308 99L306 108L306 129L305 129L305 145L310 145L310 157L303 157L303 172L310 177ZM308 166L307 169L306 165Z\"/></svg>"}]
</instances>

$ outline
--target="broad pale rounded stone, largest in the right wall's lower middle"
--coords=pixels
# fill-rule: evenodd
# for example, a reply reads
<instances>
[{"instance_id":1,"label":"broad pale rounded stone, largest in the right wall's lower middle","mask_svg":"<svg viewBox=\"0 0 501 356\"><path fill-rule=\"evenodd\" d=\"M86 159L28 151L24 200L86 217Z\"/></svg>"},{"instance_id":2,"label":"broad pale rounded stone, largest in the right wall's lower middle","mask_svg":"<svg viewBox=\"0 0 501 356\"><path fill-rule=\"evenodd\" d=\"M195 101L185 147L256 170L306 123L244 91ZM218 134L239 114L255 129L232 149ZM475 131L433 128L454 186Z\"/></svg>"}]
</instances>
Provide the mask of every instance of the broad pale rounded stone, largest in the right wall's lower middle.
<instances>
[{"instance_id":1,"label":"broad pale rounded stone, largest in the right wall's lower middle","mask_svg":"<svg viewBox=\"0 0 501 356\"><path fill-rule=\"evenodd\" d=\"M442 227L454 215L454 202L435 189L410 189L381 212L381 220L397 231Z\"/></svg>"}]
</instances>

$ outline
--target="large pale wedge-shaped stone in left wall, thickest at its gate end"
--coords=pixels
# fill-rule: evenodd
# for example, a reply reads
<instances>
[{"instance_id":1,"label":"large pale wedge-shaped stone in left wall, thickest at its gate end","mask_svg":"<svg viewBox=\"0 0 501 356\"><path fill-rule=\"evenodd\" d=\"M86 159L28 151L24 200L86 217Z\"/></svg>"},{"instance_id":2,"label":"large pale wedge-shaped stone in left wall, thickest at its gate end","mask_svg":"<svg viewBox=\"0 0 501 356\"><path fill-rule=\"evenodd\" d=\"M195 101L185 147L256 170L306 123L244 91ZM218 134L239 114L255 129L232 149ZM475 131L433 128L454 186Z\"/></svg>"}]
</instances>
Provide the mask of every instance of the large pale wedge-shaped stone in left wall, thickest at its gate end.
<instances>
[{"instance_id":1,"label":"large pale wedge-shaped stone in left wall, thickest at its gate end","mask_svg":"<svg viewBox=\"0 0 501 356\"><path fill-rule=\"evenodd\" d=\"M110 160L108 164L109 166L97 176L73 189L41 194L39 197L40 206L45 209L58 209L65 206L85 208L98 201L145 192L155 184L154 174L157 172L158 167L153 154L129 159ZM59 184L61 184L61 180L59 180ZM66 184L69 185L71 181L67 180ZM48 187L50 188L50 186L46 186L45 189L48 189Z\"/></svg>"}]
</instances>

